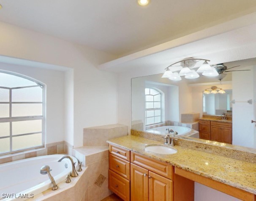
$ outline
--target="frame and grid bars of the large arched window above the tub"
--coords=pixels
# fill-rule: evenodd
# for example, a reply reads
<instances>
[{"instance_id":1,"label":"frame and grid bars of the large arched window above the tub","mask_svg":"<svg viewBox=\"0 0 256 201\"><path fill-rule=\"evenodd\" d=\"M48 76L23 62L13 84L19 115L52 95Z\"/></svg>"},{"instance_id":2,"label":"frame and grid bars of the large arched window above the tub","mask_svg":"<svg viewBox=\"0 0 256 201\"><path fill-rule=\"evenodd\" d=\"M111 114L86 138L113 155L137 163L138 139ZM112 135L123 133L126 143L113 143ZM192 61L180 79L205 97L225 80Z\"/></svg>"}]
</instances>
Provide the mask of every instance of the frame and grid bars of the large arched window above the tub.
<instances>
[{"instance_id":1,"label":"frame and grid bars of the large arched window above the tub","mask_svg":"<svg viewBox=\"0 0 256 201\"><path fill-rule=\"evenodd\" d=\"M3 138L9 138L10 139L10 150L0 153L0 156L10 154L10 153L17 153L17 152L21 152L21 151L27 151L27 150L31 150L31 149L35 149L35 148L44 148L45 147L45 131L46 131L46 126L45 126L45 122L46 122L46 120L45 120L46 119L46 111L45 111L46 85L44 85L41 82L38 82L35 79L24 76L22 74L16 74L16 73L13 73L13 72L2 71L2 70L0 70L0 73L11 74L11 75L14 75L14 76L17 76L17 77L21 77L21 78L30 80L31 82L35 82L37 84L37 85L24 86L24 87L1 87L0 86L1 89L9 90L9 101L8 102L0 102L0 104L9 104L9 117L1 117L0 118L0 123L10 122L10 125L9 125L10 126L10 133L9 134L10 135L0 137L0 139L3 139ZM22 89L22 88L29 88L29 87L40 87L42 89L42 102L13 102L12 101L12 90ZM42 104L42 115L12 117L12 104L25 104L25 103L30 103L30 104L41 103ZM41 132L31 132L31 133L23 133L23 134L19 134L19 135L12 135L12 122L31 121L31 120L42 120L42 130L41 130ZM24 136L24 135L33 135L33 134L38 134L38 133L42 134L41 135L41 140L42 140L41 145L36 145L36 146L17 149L17 150L12 150L12 138L19 137L19 136Z\"/></svg>"}]
</instances>

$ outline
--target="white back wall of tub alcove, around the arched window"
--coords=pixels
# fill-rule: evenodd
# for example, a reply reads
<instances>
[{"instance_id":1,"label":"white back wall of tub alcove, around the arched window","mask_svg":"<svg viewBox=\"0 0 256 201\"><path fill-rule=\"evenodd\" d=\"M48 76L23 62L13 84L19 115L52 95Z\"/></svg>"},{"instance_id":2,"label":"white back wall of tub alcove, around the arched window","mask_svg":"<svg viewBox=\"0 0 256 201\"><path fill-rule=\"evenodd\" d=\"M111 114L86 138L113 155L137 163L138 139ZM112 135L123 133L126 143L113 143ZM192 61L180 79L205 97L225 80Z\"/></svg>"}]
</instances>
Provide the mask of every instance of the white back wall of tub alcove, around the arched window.
<instances>
[{"instance_id":1,"label":"white back wall of tub alcove, around the arched window","mask_svg":"<svg viewBox=\"0 0 256 201\"><path fill-rule=\"evenodd\" d=\"M0 69L46 84L46 143L64 140L64 72L0 63Z\"/></svg>"}]
</instances>

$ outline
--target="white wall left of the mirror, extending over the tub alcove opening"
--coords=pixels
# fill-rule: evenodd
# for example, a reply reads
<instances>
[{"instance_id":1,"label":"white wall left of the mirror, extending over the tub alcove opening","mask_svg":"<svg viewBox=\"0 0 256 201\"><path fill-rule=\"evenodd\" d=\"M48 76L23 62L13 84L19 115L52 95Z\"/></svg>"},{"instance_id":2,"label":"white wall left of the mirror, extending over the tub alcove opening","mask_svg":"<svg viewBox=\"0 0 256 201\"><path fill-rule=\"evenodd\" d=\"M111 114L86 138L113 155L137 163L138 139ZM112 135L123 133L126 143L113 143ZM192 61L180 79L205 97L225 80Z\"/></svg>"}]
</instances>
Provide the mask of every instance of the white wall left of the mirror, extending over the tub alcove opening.
<instances>
[{"instance_id":1,"label":"white wall left of the mirror, extending over the tub alcove opening","mask_svg":"<svg viewBox=\"0 0 256 201\"><path fill-rule=\"evenodd\" d=\"M117 76L96 68L114 59L114 56L3 22L0 22L0 27L0 56L65 66L74 70L74 94L70 86L72 73L65 76L69 82L65 86L70 87L65 93L64 125L65 139L69 143L75 147L82 146L84 127L117 123ZM74 96L74 104L71 96ZM70 107L74 107L74 112ZM72 113L74 121L71 120Z\"/></svg>"}]
</instances>

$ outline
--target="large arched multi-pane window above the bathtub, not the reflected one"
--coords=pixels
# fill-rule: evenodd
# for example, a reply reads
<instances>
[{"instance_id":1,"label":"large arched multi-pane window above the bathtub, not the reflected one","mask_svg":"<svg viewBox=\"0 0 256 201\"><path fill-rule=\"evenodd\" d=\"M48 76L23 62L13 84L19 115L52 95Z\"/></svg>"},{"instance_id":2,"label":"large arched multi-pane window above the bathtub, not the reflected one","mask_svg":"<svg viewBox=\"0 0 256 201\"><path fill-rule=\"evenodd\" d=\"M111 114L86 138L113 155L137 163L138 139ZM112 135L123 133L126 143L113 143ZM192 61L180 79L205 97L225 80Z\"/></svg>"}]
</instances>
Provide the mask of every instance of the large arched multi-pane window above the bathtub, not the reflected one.
<instances>
[{"instance_id":1,"label":"large arched multi-pane window above the bathtub, not the reflected one","mask_svg":"<svg viewBox=\"0 0 256 201\"><path fill-rule=\"evenodd\" d=\"M44 85L0 71L0 154L44 145Z\"/></svg>"}]
</instances>

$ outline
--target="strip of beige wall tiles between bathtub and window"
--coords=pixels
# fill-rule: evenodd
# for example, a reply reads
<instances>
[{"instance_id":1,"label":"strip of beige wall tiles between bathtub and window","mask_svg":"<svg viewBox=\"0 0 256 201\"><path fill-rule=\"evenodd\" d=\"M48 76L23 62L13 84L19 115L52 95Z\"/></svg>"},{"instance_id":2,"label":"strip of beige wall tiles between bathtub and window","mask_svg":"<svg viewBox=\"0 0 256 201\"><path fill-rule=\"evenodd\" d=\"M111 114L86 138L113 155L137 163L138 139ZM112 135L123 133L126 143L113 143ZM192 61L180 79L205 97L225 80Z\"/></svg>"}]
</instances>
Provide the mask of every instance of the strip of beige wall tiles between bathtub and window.
<instances>
[{"instance_id":1,"label":"strip of beige wall tiles between bathtub and window","mask_svg":"<svg viewBox=\"0 0 256 201\"><path fill-rule=\"evenodd\" d=\"M31 157L36 156L45 156L45 155L52 155L52 154L68 154L71 155L71 152L68 151L69 149L72 150L72 147L65 142L56 142L56 143L50 143L46 144L45 148L37 148L17 153L10 153L3 156L0 156L0 164L11 162L11 161L17 161L21 159L28 159Z\"/></svg>"}]
</instances>

